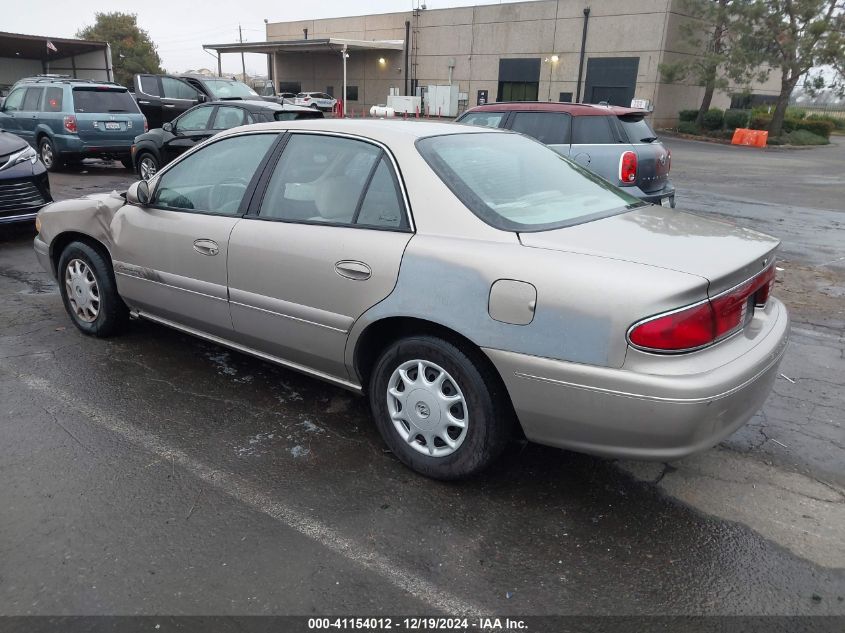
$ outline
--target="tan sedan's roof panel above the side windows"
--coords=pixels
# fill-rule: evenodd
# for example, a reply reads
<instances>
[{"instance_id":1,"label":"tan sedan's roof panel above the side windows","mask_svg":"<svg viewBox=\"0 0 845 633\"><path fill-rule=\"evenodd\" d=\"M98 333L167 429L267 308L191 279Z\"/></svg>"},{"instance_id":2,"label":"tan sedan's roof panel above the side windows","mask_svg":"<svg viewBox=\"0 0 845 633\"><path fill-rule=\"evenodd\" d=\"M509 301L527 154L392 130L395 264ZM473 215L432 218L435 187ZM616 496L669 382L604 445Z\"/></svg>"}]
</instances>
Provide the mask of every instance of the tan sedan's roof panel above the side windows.
<instances>
[{"instance_id":1,"label":"tan sedan's roof panel above the side windows","mask_svg":"<svg viewBox=\"0 0 845 633\"><path fill-rule=\"evenodd\" d=\"M307 108L306 108L307 109ZM297 121L277 121L273 123L255 123L227 131L227 134L242 133L246 130L302 130L313 132L338 132L360 135L386 144L409 142L428 136L447 134L513 134L507 130L440 123L436 121L410 121L405 119L300 119Z\"/></svg>"}]
</instances>

